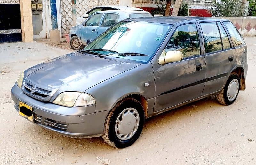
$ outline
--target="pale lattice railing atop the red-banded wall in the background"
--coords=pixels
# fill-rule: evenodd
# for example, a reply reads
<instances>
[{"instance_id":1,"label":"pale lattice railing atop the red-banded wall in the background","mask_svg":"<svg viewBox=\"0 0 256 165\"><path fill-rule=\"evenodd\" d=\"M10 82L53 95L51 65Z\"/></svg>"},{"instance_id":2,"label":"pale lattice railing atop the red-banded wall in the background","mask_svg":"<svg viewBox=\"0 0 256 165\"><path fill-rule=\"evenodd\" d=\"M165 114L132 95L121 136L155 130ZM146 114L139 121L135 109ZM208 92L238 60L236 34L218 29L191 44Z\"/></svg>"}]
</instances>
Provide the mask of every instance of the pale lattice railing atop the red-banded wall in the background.
<instances>
[{"instance_id":1,"label":"pale lattice railing atop the red-banded wall in the background","mask_svg":"<svg viewBox=\"0 0 256 165\"><path fill-rule=\"evenodd\" d=\"M165 1L161 0L132 0L135 4L159 4L159 5L165 5ZM171 1L171 4L174 4L174 0ZM188 0L189 5L192 6L209 6L211 4L212 0ZM187 4L187 0L183 0L183 3Z\"/></svg>"}]
</instances>

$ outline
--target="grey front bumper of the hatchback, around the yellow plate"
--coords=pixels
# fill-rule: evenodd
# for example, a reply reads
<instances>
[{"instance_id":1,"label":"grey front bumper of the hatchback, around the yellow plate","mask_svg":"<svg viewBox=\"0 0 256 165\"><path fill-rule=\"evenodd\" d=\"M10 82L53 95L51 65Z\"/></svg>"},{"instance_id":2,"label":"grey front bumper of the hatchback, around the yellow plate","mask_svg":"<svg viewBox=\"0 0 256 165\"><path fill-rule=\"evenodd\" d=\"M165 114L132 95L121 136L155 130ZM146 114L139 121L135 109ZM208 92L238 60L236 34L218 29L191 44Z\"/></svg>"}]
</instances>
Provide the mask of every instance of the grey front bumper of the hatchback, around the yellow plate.
<instances>
[{"instance_id":1,"label":"grey front bumper of the hatchback, around the yellow plate","mask_svg":"<svg viewBox=\"0 0 256 165\"><path fill-rule=\"evenodd\" d=\"M109 112L106 110L95 113L95 105L63 107L38 101L24 94L16 84L11 89L11 97L17 111L19 101L33 108L33 123L72 138L101 136Z\"/></svg>"}]
</instances>

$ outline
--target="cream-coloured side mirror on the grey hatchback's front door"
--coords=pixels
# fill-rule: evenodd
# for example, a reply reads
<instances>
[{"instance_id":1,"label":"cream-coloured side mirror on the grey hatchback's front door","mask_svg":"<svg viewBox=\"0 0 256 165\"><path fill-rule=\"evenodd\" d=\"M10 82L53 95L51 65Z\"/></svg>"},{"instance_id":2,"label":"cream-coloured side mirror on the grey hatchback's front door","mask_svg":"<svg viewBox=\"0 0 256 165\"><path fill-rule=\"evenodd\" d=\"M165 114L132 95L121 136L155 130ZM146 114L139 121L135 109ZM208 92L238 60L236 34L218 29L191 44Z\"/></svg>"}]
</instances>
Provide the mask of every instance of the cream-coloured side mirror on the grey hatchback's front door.
<instances>
[{"instance_id":1,"label":"cream-coloured side mirror on the grey hatchback's front door","mask_svg":"<svg viewBox=\"0 0 256 165\"><path fill-rule=\"evenodd\" d=\"M168 51L166 55L163 51L158 59L159 64L172 63L182 60L183 54L180 51Z\"/></svg>"}]
</instances>

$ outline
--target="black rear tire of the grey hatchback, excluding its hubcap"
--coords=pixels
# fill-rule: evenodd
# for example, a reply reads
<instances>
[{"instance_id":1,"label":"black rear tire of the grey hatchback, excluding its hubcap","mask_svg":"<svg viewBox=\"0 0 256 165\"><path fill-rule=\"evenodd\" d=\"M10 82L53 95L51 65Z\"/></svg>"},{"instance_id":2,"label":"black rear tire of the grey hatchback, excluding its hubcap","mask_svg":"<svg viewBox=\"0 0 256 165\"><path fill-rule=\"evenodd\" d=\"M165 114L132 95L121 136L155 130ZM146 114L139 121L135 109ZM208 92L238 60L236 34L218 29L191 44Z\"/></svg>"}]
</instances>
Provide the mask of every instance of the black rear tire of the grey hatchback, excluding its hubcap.
<instances>
[{"instance_id":1,"label":"black rear tire of the grey hatchback, excluding its hubcap","mask_svg":"<svg viewBox=\"0 0 256 165\"><path fill-rule=\"evenodd\" d=\"M232 101L229 101L228 100L228 94L227 94L227 91L228 91L228 85L229 83L233 80L233 79L237 79L238 80L238 83L239 83L239 86L238 86L238 93L236 94L236 97L234 100ZM219 94L217 94L217 100L220 104L222 105L230 105L230 104L233 104L233 102L236 101L236 98L239 94L239 87L240 87L240 79L239 79L239 76L238 74L236 73L232 73L230 74L226 84L224 85L223 89L221 90L221 92Z\"/></svg>"}]
</instances>

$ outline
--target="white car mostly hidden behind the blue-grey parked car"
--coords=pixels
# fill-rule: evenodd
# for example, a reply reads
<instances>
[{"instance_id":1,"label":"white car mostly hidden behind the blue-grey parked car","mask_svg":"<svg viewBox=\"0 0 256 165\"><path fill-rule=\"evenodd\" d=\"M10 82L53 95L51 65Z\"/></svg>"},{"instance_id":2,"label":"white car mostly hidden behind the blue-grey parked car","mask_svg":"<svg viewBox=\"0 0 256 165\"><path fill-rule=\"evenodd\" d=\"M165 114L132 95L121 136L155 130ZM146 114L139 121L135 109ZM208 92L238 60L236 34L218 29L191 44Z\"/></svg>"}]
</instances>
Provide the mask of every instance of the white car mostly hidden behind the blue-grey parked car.
<instances>
[{"instance_id":1,"label":"white car mostly hidden behind the blue-grey parked car","mask_svg":"<svg viewBox=\"0 0 256 165\"><path fill-rule=\"evenodd\" d=\"M89 16L91 16L96 11L105 11L105 10L135 10L135 11L144 11L143 9L136 8L136 7L127 7L127 6L115 6L115 5L108 5L108 6L97 6L89 10L83 17L76 18L76 25L82 24Z\"/></svg>"}]
</instances>

